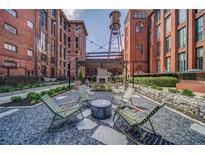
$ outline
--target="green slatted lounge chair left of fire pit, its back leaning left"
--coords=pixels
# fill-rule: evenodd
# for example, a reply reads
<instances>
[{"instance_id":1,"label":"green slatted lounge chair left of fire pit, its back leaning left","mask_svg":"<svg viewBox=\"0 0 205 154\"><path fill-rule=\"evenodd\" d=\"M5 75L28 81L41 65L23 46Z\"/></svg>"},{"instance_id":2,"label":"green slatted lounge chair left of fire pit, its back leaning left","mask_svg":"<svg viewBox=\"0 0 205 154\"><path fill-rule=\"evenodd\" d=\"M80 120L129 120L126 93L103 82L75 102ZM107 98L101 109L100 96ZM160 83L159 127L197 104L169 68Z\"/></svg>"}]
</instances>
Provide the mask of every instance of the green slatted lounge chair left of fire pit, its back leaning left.
<instances>
[{"instance_id":1,"label":"green slatted lounge chair left of fire pit, its back leaning left","mask_svg":"<svg viewBox=\"0 0 205 154\"><path fill-rule=\"evenodd\" d=\"M81 111L81 107L78 101L72 101L69 103L58 105L47 94L42 96L41 99L45 103L45 105L54 113L54 117L48 128L48 131L52 131L52 125L54 121L57 121L57 120L67 119L79 113L81 114L82 119L84 119L82 111ZM73 107L73 105L75 106ZM68 107L68 106L72 106L72 107Z\"/></svg>"}]
</instances>

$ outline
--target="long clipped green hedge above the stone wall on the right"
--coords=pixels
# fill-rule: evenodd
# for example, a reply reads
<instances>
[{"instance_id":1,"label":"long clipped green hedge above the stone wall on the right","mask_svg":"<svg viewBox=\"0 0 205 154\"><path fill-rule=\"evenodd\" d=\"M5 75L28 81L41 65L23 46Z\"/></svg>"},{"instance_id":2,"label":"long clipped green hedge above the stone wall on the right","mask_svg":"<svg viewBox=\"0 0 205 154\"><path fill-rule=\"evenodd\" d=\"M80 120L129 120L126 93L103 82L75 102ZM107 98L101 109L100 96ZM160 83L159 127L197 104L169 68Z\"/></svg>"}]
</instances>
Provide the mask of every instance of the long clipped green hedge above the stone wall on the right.
<instances>
[{"instance_id":1,"label":"long clipped green hedge above the stone wall on the right","mask_svg":"<svg viewBox=\"0 0 205 154\"><path fill-rule=\"evenodd\" d=\"M129 79L132 82L132 79ZM134 82L136 84L142 84L147 86L157 85L160 87L176 87L177 78L176 77L135 77Z\"/></svg>"}]
</instances>

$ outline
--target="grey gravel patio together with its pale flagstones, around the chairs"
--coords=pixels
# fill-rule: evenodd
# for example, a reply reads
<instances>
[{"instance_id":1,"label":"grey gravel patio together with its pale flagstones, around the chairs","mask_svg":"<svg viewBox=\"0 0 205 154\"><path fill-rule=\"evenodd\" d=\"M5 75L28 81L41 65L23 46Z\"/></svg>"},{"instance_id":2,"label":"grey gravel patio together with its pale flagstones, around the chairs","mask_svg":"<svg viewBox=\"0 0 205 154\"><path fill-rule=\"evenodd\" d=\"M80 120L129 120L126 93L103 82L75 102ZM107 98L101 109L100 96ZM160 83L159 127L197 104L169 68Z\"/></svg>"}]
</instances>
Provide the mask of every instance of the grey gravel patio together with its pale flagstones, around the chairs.
<instances>
[{"instance_id":1,"label":"grey gravel patio together with its pale flagstones, around the chairs","mask_svg":"<svg viewBox=\"0 0 205 154\"><path fill-rule=\"evenodd\" d=\"M101 99L112 99L110 92L97 92L96 95ZM70 91L55 100L60 104L78 97L78 91ZM138 94L133 96L133 101L135 105L149 109L146 112L157 105ZM113 111L115 108L113 105ZM22 109L0 108L0 144L134 144L113 126L112 117L94 119L90 109L85 109L83 115L85 119L77 124L80 115L69 121L71 127L49 133L47 128L53 114L44 104ZM204 126L168 108L161 109L152 121L162 139L150 137L147 144L205 144ZM62 124L60 121L55 127Z\"/></svg>"}]
</instances>

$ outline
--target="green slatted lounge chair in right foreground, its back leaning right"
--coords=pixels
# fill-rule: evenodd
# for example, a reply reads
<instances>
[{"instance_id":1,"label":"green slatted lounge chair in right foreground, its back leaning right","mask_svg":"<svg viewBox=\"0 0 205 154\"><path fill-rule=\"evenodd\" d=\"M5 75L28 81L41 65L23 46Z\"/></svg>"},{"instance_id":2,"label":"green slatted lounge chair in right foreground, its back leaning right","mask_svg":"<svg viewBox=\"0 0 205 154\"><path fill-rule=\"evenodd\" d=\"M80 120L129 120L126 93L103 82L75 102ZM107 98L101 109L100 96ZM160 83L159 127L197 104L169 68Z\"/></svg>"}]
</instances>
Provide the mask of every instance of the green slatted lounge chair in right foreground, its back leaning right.
<instances>
[{"instance_id":1,"label":"green slatted lounge chair in right foreground, its back leaning right","mask_svg":"<svg viewBox=\"0 0 205 154\"><path fill-rule=\"evenodd\" d=\"M124 105L124 106L119 106L116 109L116 112L114 114L114 125L124 134L127 136L128 139L134 141L135 143L139 144L138 141L136 141L135 139L132 138L132 135L135 134L137 131L139 132L140 135L140 140L142 140L144 142L144 136L142 133L141 128L143 127L143 125L147 122L149 122L150 126L151 126L151 131L148 128L143 127L145 130L147 130L148 132L153 132L154 135L156 135L153 124L151 122L151 117L154 116L163 106L165 105L159 105L156 106L150 113L146 114L144 110L141 110L137 107L131 106L131 105ZM136 113L138 112L144 112L145 116L137 116ZM117 120L116 119L117 116ZM121 129L118 125L117 125L117 121L119 119L122 119L127 125L127 129L123 130Z\"/></svg>"}]
</instances>

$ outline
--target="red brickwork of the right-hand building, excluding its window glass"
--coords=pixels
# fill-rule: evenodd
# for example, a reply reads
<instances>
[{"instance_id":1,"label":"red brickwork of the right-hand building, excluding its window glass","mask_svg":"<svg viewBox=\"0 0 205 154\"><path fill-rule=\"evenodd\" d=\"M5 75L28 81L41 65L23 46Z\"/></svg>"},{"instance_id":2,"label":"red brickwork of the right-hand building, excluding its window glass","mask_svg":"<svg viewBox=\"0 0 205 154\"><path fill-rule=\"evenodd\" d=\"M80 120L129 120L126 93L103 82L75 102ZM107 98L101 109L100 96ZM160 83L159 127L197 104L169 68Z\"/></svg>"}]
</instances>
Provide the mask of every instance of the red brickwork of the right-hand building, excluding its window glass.
<instances>
[{"instance_id":1,"label":"red brickwork of the right-hand building, excluding its window glass","mask_svg":"<svg viewBox=\"0 0 205 154\"><path fill-rule=\"evenodd\" d=\"M146 18L135 16L137 12L145 12ZM156 21L156 13L159 11L159 21ZM186 10L186 20L178 24L178 11L173 10L129 10L125 21L125 59L135 61L140 66L136 66L135 74L141 70L147 73L180 72L179 54L185 53L185 70L196 69L196 49L203 49L203 59L205 55L205 19L203 19L203 38L196 41L196 20L199 17L205 18L205 10ZM134 17L135 16L135 17ZM166 32L166 19L170 17L170 32ZM136 32L136 24L143 23L144 30ZM148 26L149 25L149 26ZM157 40L157 27L160 29L160 39ZM186 45L178 47L178 33L182 28L186 28ZM170 52L166 52L166 38L170 37ZM138 43L143 44L143 53L136 49ZM157 46L160 48L160 55L157 56ZM147 57L148 56L148 57ZM135 58L135 59L134 59ZM170 58L170 69L166 66L166 58ZM141 61L141 62L140 62ZM157 62L158 65L157 65ZM160 68L159 68L160 66ZM138 70L139 67L139 70ZM203 68L205 69L205 60ZM132 74L132 64L128 65L128 74Z\"/></svg>"}]
</instances>

